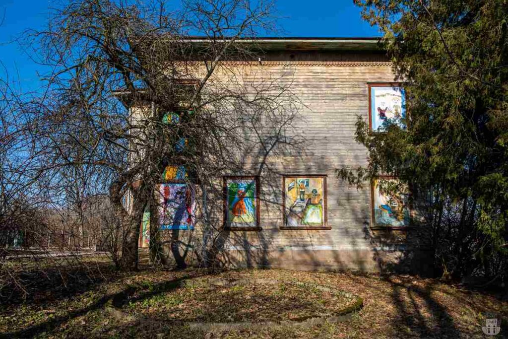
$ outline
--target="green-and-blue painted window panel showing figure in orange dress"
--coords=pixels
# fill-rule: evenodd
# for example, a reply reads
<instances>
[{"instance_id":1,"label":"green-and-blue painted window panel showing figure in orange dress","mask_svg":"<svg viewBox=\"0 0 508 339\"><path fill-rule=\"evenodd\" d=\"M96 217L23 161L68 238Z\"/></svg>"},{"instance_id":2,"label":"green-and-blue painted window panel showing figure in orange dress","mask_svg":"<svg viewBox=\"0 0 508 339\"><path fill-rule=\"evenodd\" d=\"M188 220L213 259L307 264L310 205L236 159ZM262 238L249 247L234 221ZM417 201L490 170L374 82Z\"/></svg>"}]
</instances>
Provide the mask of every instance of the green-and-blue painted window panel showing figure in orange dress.
<instances>
[{"instance_id":1,"label":"green-and-blue painted window panel showing figure in orange dress","mask_svg":"<svg viewBox=\"0 0 508 339\"><path fill-rule=\"evenodd\" d=\"M229 228L258 228L257 177L225 177L225 221Z\"/></svg>"}]
</instances>

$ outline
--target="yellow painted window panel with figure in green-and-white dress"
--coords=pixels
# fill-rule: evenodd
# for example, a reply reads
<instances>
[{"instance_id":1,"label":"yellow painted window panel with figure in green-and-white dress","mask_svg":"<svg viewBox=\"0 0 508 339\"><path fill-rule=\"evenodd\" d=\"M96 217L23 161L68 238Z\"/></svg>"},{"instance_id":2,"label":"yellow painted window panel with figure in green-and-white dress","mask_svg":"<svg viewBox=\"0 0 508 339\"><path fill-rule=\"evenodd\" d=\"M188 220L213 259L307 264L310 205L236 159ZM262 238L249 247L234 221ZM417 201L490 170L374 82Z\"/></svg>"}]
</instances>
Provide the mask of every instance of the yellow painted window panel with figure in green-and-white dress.
<instances>
[{"instance_id":1,"label":"yellow painted window panel with figure in green-and-white dress","mask_svg":"<svg viewBox=\"0 0 508 339\"><path fill-rule=\"evenodd\" d=\"M324 176L284 177L285 226L326 226Z\"/></svg>"}]
</instances>

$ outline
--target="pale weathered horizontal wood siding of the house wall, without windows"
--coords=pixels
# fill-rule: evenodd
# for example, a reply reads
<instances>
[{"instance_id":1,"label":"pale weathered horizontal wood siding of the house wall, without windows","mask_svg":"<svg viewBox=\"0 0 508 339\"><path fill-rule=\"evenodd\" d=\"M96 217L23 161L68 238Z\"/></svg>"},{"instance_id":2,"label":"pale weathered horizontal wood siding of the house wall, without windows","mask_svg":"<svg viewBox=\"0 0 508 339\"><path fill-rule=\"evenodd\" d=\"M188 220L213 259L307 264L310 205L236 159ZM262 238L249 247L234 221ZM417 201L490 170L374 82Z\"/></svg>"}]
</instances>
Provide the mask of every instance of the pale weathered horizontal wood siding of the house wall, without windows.
<instances>
[{"instance_id":1,"label":"pale weathered horizontal wood siding of the house wall, without windows","mask_svg":"<svg viewBox=\"0 0 508 339\"><path fill-rule=\"evenodd\" d=\"M277 57L280 56L272 59ZM299 57L306 58L305 55ZM329 56L327 58L330 59ZM363 56L363 59L366 58L368 59ZM376 58L380 57L372 57L373 60ZM245 251L251 251L247 248L259 248L263 253L271 253L270 263L275 266L375 269L374 255L379 249L371 244L368 232L370 187L360 190L350 187L336 177L335 170L367 165L367 150L355 141L355 124L358 116L368 120L367 83L396 81L392 68L373 63L330 66L323 63L277 65L274 62L235 67L228 66L229 70L225 72L219 69L211 81L226 87L237 86L239 83L260 84L260 79L270 78L278 79L283 85L291 84L290 89L301 105L288 133L305 141L297 147L278 149L266 159L260 194L263 231L232 231L228 235L225 249L236 251L244 248ZM234 77L230 72L232 68L235 70ZM251 154L245 156L244 167L241 169L245 175L257 173L260 161L257 155L262 154L260 149L260 145L253 144ZM327 175L330 230L279 229L283 226L282 174ZM222 202L217 200L215 205L220 210ZM217 212L212 221L220 224L221 217L221 213ZM201 232L199 228L196 230L196 239L202 237ZM281 253L288 251L310 253L307 257L295 255L297 261L284 265L284 260L291 260L291 256L282 256ZM325 257L320 258L320 253Z\"/></svg>"}]
</instances>

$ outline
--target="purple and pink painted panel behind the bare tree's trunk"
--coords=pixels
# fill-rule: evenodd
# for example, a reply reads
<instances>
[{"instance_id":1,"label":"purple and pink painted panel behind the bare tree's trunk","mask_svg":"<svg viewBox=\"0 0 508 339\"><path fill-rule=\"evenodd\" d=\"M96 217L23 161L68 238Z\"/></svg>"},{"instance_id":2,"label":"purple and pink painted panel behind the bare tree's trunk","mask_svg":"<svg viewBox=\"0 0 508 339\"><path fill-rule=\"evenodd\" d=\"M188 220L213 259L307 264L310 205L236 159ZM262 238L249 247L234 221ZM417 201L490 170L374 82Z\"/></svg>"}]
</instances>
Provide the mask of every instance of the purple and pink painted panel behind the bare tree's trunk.
<instances>
[{"instance_id":1,"label":"purple and pink painted panel behind the bare tree's trunk","mask_svg":"<svg viewBox=\"0 0 508 339\"><path fill-rule=\"evenodd\" d=\"M163 183L160 186L162 230L192 230L196 222L196 197L192 185Z\"/></svg>"}]
</instances>

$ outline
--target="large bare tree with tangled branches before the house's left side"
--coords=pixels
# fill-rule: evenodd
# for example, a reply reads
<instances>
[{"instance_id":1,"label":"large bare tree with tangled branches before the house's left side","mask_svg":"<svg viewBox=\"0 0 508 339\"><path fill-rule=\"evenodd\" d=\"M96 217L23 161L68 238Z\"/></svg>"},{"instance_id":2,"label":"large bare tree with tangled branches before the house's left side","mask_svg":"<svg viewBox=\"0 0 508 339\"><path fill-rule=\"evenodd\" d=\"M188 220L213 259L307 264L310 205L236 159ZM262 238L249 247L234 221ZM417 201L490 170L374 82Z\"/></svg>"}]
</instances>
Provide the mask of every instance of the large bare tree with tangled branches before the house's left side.
<instances>
[{"instance_id":1,"label":"large bare tree with tangled branches before the house's left side","mask_svg":"<svg viewBox=\"0 0 508 339\"><path fill-rule=\"evenodd\" d=\"M257 65L255 37L273 28L271 11L248 0L188 0L174 12L164 2L79 0L54 10L49 28L26 40L51 67L47 89L11 110L25 117L16 133L29 153L26 185L73 209L78 236L85 201L107 194L113 259L135 269L146 210L152 259L165 261L159 185L183 168L204 229L196 258L213 264L221 175L267 171L270 153L296 143L286 136L297 111L291 79Z\"/></svg>"}]
</instances>

